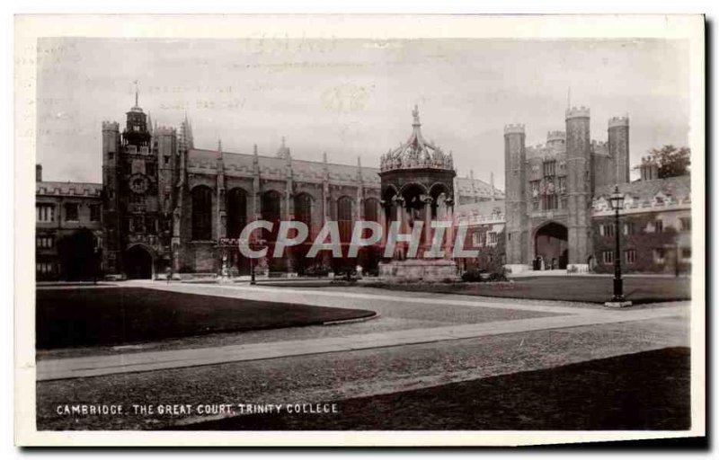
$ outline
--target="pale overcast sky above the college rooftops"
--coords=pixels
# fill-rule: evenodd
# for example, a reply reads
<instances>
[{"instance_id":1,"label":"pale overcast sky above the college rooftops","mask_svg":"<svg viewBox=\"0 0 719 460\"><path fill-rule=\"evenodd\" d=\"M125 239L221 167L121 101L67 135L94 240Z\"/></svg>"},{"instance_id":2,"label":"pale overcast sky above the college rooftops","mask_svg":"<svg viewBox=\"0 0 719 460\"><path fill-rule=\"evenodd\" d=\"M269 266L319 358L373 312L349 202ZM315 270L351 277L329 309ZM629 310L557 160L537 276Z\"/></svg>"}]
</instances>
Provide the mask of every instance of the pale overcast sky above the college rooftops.
<instances>
[{"instance_id":1,"label":"pale overcast sky above the college rooftops","mask_svg":"<svg viewBox=\"0 0 719 460\"><path fill-rule=\"evenodd\" d=\"M185 111L195 146L377 166L411 132L452 151L460 175L503 188L503 126L528 145L564 130L568 89L591 110L592 138L630 117L634 165L688 145L688 46L665 40L44 39L38 57L38 162L48 181L102 181L104 119L134 104L160 125Z\"/></svg>"}]
</instances>

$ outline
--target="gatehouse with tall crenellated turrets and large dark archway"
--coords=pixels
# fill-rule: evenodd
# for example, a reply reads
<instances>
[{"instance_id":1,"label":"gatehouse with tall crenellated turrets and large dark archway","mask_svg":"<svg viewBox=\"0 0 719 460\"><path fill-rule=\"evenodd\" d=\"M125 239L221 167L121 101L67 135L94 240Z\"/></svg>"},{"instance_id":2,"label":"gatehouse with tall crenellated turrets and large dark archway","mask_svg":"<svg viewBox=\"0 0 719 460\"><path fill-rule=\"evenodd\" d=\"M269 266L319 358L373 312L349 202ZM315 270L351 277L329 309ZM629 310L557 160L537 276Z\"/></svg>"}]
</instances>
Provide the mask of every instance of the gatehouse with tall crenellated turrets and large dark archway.
<instances>
[{"instance_id":1,"label":"gatehouse with tall crenellated turrets and large dark archway","mask_svg":"<svg viewBox=\"0 0 719 460\"><path fill-rule=\"evenodd\" d=\"M546 144L527 146L524 125L507 125L504 146L510 270L550 253L560 268L588 270L592 196L629 181L629 120L609 119L608 140L598 142L590 138L590 110L575 107L565 113L565 130L547 133ZM561 251L546 246L560 241Z\"/></svg>"}]
</instances>

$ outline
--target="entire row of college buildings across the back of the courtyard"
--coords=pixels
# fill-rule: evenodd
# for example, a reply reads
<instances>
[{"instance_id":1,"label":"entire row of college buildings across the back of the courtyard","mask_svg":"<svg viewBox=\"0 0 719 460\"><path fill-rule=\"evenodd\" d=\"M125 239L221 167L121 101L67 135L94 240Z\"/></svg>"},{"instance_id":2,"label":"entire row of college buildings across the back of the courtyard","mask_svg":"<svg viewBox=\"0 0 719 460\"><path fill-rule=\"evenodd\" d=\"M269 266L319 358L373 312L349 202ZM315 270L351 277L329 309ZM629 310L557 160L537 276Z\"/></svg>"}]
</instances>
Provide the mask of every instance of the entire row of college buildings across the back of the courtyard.
<instances>
[{"instance_id":1,"label":"entire row of college buildings across the back of the courtyard","mask_svg":"<svg viewBox=\"0 0 719 460\"><path fill-rule=\"evenodd\" d=\"M543 146L528 146L523 126L505 127L505 198L493 180L455 176L451 154L423 139L416 108L409 139L373 168L359 159L330 163L326 155L322 162L297 159L284 139L275 155L260 155L256 147L229 153L220 142L197 148L188 119L179 128L153 126L136 99L123 127L102 123L102 184L43 181L37 166L37 279L246 275L250 261L237 238L255 219L275 223L274 233L262 234L270 253L281 220L309 228L307 243L289 248L286 257L258 261L270 276L324 275L356 265L374 274L382 261L378 246L352 260L328 251L314 259L305 254L325 221L338 222L346 245L357 220L386 224L398 212L413 217L421 208L413 208L408 190L431 203L425 211L431 214L421 218L437 217L441 203L453 232L465 227L465 248L478 256L457 260L459 271L610 271L614 226L607 198L615 183L626 195L619 255L625 270L689 270L689 177L660 180L656 164L644 161L641 180L629 181L628 119L609 120L607 142L590 141L589 123L589 110L567 111L566 130L548 133ZM451 172L444 173L443 190L410 183L415 169L419 178L433 168ZM395 170L410 179L395 198L383 197L380 176Z\"/></svg>"}]
</instances>

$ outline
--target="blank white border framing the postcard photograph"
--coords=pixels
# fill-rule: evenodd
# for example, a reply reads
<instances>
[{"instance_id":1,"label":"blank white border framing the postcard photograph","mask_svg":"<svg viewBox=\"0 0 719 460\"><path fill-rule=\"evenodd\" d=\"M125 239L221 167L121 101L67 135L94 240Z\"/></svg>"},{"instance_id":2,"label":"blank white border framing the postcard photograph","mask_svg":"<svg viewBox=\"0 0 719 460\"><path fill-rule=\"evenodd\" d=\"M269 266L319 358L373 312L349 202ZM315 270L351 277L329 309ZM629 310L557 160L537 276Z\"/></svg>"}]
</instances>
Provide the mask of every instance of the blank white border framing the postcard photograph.
<instances>
[{"instance_id":1,"label":"blank white border framing the postcard photograph","mask_svg":"<svg viewBox=\"0 0 719 460\"><path fill-rule=\"evenodd\" d=\"M15 443L22 446L512 446L702 436L706 430L705 37L701 15L21 15L14 31ZM692 151L692 429L688 431L37 431L34 358L36 40L466 38L688 40ZM281 433L281 435L280 435Z\"/></svg>"}]
</instances>

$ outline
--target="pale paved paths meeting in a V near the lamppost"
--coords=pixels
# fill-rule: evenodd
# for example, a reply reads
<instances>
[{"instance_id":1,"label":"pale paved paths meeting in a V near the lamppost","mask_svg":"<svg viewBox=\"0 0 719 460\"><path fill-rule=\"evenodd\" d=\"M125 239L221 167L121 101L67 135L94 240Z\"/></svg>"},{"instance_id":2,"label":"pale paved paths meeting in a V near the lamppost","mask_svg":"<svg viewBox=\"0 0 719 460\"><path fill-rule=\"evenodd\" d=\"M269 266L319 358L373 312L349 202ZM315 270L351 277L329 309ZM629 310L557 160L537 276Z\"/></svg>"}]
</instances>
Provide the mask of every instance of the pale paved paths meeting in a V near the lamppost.
<instances>
[{"instance_id":1,"label":"pale paved paths meeting in a V near the lamppost","mask_svg":"<svg viewBox=\"0 0 719 460\"><path fill-rule=\"evenodd\" d=\"M171 289L188 293L209 294L201 285L161 285L147 283L148 288ZM267 301L307 303L311 305L344 306L351 298L355 302L411 302L438 304L438 298L406 295L376 295L362 293L323 292L302 289L228 286L211 288L211 295L258 298ZM340 303L338 305L338 303ZM652 320L688 314L688 303L646 310L618 310L577 308L558 305L508 304L442 297L442 304L472 305L485 308L504 308L561 314L540 318L497 321L492 323L459 324L434 328L411 329L382 333L352 334L343 337L309 339L303 341L276 341L201 349L173 349L140 353L116 354L84 358L47 359L38 362L37 379L57 380L85 376L104 376L127 372L193 367L255 359L281 358L337 351L394 347L435 341L452 341L493 336L515 332L560 329L592 324L624 323Z\"/></svg>"}]
</instances>

